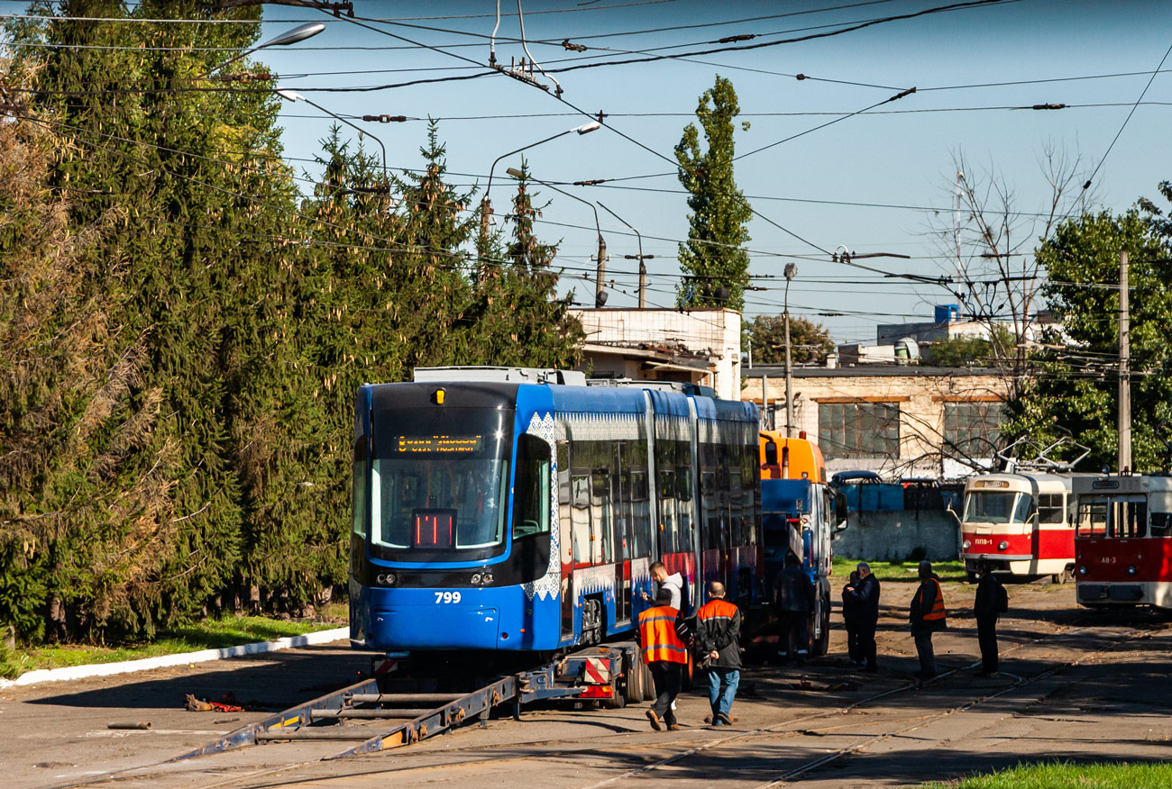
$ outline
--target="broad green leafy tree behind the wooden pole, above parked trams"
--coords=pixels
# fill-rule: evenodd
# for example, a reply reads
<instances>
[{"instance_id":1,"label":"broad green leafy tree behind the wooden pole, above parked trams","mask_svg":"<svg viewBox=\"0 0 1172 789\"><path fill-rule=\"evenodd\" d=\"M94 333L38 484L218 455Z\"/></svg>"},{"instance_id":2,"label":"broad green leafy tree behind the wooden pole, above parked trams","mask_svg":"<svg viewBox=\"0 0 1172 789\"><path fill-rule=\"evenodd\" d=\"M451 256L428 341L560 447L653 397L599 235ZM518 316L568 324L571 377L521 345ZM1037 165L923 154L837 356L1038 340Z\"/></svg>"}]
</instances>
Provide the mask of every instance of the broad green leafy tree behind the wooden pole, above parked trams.
<instances>
[{"instance_id":1,"label":"broad green leafy tree behind the wooden pole, above parked trams","mask_svg":"<svg viewBox=\"0 0 1172 789\"><path fill-rule=\"evenodd\" d=\"M1147 205L1151 205L1150 203ZM1154 207L1154 206L1153 206ZM1118 458L1119 253L1130 268L1132 454L1137 469L1166 468L1172 452L1160 440L1172 424L1172 274L1170 239L1160 218L1133 208L1122 215L1084 214L1058 225L1036 252L1050 281L1044 295L1061 331L1047 337L1037 372L1011 404L1007 432L1047 441L1071 435L1091 448L1088 467ZM1108 287L1104 287L1108 286Z\"/></svg>"}]
</instances>

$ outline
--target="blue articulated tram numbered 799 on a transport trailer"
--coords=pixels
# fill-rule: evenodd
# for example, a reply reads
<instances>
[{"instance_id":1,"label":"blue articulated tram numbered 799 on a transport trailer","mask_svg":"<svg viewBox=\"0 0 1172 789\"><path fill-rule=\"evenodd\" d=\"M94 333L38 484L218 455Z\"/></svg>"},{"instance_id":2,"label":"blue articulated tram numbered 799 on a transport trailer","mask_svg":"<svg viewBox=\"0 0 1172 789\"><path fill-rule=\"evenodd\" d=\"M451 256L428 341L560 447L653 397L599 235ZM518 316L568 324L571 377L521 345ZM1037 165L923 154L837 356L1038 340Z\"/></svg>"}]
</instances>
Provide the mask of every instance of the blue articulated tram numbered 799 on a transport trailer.
<instances>
[{"instance_id":1,"label":"blue articulated tram numbered 799 on a transport trailer","mask_svg":"<svg viewBox=\"0 0 1172 789\"><path fill-rule=\"evenodd\" d=\"M690 384L416 370L354 419L350 636L384 652L559 651L636 629L661 560L757 602L758 420Z\"/></svg>"}]
</instances>

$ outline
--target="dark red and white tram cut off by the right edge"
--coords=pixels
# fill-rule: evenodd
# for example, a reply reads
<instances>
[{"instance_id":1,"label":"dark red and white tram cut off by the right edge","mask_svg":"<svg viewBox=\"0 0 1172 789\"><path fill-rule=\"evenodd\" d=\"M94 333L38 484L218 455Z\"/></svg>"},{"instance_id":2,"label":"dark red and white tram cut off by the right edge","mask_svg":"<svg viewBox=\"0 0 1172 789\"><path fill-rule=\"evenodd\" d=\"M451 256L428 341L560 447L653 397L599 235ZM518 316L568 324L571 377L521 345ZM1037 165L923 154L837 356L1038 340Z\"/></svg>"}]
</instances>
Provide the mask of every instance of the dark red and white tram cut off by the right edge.
<instances>
[{"instance_id":1,"label":"dark red and white tram cut off by the right edge","mask_svg":"<svg viewBox=\"0 0 1172 789\"><path fill-rule=\"evenodd\" d=\"M1078 603L1172 609L1172 476L1075 480Z\"/></svg>"}]
</instances>

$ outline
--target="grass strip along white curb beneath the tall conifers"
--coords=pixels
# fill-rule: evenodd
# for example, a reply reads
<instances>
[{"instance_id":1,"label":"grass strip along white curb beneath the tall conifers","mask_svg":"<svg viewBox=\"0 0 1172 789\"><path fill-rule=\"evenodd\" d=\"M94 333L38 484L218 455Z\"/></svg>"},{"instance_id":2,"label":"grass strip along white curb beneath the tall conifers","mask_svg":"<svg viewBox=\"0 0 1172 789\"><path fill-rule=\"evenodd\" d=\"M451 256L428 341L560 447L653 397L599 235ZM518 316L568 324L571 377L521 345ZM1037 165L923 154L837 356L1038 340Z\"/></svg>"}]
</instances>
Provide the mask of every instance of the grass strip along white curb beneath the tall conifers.
<instances>
[{"instance_id":1,"label":"grass strip along white curb beneath the tall conifers","mask_svg":"<svg viewBox=\"0 0 1172 789\"><path fill-rule=\"evenodd\" d=\"M179 654L198 650L239 646L254 642L272 642L289 636L304 636L346 624L345 605L331 605L319 619L299 622L268 617L205 619L162 631L150 640L123 644L56 644L16 650L0 647L0 677L13 679L35 668L61 668L94 663L120 663L161 654Z\"/></svg>"}]
</instances>

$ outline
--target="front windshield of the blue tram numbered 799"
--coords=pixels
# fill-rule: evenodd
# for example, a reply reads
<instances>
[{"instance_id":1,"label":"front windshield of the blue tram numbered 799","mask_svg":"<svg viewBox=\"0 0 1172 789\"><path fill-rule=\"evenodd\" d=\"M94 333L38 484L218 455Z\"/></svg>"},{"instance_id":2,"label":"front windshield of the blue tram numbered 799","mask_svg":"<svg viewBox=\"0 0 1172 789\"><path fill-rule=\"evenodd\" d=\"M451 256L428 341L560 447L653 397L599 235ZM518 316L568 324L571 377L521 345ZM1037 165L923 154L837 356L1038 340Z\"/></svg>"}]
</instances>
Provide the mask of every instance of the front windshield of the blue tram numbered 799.
<instances>
[{"instance_id":1,"label":"front windshield of the blue tram numbered 799","mask_svg":"<svg viewBox=\"0 0 1172 789\"><path fill-rule=\"evenodd\" d=\"M500 554L512 420L505 409L375 413L372 553L410 562Z\"/></svg>"}]
</instances>

